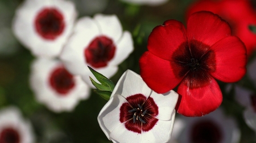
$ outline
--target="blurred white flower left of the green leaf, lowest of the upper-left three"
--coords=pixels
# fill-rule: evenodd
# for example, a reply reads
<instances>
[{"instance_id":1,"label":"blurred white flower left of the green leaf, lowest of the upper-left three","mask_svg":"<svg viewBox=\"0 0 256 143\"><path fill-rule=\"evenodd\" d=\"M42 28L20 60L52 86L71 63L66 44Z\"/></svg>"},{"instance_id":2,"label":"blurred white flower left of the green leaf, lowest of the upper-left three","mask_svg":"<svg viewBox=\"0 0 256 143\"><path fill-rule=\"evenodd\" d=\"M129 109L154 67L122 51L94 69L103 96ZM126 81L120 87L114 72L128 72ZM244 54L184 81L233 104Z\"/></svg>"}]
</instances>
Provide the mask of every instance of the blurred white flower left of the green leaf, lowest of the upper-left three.
<instances>
[{"instance_id":1,"label":"blurred white flower left of the green leaf, lowest of the upper-left three","mask_svg":"<svg viewBox=\"0 0 256 143\"><path fill-rule=\"evenodd\" d=\"M89 97L88 85L69 73L59 60L36 59L32 63L31 89L39 102L55 112L71 111Z\"/></svg>"}]
</instances>

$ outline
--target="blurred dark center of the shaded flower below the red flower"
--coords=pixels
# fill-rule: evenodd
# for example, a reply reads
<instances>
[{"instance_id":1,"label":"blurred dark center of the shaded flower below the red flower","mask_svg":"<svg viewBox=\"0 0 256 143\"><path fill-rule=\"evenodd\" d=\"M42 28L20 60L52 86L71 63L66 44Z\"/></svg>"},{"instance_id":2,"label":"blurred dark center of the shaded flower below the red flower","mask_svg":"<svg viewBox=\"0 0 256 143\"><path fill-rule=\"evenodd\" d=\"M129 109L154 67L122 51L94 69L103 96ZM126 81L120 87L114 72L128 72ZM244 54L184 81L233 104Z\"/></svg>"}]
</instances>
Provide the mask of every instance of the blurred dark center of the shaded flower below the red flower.
<instances>
[{"instance_id":1,"label":"blurred dark center of the shaded flower below the red flower","mask_svg":"<svg viewBox=\"0 0 256 143\"><path fill-rule=\"evenodd\" d=\"M211 120L201 120L192 126L190 138L193 143L220 143L222 135L218 124Z\"/></svg>"}]
</instances>

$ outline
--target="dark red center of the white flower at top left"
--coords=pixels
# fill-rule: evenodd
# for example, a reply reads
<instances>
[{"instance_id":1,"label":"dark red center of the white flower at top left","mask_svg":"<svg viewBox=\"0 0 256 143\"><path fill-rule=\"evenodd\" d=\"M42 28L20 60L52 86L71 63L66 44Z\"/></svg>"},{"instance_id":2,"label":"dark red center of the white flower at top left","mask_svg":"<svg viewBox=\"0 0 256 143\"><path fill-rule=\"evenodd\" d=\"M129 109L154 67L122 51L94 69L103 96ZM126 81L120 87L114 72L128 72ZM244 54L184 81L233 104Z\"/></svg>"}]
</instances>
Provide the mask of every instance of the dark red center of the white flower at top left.
<instances>
[{"instance_id":1,"label":"dark red center of the white flower at top left","mask_svg":"<svg viewBox=\"0 0 256 143\"><path fill-rule=\"evenodd\" d=\"M35 29L47 40L55 40L65 28L63 15L56 8L44 8L35 18Z\"/></svg>"}]
</instances>

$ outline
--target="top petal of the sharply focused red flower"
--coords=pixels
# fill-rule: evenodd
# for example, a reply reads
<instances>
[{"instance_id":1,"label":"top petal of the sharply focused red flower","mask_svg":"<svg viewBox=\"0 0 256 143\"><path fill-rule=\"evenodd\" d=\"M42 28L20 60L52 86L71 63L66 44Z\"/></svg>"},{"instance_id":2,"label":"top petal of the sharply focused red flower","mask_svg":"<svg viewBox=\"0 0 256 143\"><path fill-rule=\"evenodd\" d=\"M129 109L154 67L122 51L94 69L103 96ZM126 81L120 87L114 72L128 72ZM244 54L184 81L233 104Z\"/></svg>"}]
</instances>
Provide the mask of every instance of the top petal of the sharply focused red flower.
<instances>
[{"instance_id":1,"label":"top petal of the sharply focused red flower","mask_svg":"<svg viewBox=\"0 0 256 143\"><path fill-rule=\"evenodd\" d=\"M230 36L229 24L220 16L209 11L192 14L187 24L188 40L198 40L212 46L217 41Z\"/></svg>"}]
</instances>

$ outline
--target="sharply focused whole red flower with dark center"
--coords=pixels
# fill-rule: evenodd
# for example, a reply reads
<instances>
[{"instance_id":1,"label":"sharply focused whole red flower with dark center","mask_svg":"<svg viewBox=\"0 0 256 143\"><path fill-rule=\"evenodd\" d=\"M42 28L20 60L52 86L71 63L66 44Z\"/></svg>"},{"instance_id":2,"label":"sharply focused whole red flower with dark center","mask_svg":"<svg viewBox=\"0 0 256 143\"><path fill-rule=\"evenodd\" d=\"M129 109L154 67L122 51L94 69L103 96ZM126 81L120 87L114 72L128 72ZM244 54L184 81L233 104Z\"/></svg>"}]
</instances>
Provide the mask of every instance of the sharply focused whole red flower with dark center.
<instances>
[{"instance_id":1,"label":"sharply focused whole red flower with dark center","mask_svg":"<svg viewBox=\"0 0 256 143\"><path fill-rule=\"evenodd\" d=\"M191 15L187 30L179 21L165 21L153 29L147 49L139 60L142 79L157 93L179 84L176 110L184 116L203 116L220 106L214 78L232 83L246 73L245 46L212 12Z\"/></svg>"}]
</instances>

